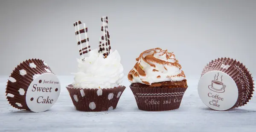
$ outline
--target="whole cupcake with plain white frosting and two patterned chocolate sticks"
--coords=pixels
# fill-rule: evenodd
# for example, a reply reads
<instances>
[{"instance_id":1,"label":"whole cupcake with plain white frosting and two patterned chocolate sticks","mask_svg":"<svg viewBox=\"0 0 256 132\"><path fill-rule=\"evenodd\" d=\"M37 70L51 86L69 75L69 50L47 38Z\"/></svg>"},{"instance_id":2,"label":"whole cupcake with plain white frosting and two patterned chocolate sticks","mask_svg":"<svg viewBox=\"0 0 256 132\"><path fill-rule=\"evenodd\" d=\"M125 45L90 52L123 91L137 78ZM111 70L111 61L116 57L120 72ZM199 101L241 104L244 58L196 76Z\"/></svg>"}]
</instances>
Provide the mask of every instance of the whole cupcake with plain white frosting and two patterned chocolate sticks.
<instances>
[{"instance_id":1,"label":"whole cupcake with plain white frosting and two patterned chocolate sticks","mask_svg":"<svg viewBox=\"0 0 256 132\"><path fill-rule=\"evenodd\" d=\"M123 67L120 55L111 50L108 32L108 17L102 17L102 36L99 48L90 50L87 27L81 21L74 23L80 59L74 82L66 88L70 93L76 110L96 112L116 109L125 90L121 86Z\"/></svg>"}]
</instances>

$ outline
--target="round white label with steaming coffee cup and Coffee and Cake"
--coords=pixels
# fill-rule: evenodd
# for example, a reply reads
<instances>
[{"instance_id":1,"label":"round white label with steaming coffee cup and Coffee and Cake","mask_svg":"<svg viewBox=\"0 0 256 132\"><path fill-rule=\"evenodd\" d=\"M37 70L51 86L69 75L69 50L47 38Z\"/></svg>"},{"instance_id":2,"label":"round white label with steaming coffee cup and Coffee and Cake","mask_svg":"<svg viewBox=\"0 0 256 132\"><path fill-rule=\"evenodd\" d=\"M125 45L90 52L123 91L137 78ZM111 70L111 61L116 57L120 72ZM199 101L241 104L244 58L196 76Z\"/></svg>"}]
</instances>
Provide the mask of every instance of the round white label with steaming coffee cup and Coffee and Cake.
<instances>
[{"instance_id":1,"label":"round white label with steaming coffee cup and Coffee and Cake","mask_svg":"<svg viewBox=\"0 0 256 132\"><path fill-rule=\"evenodd\" d=\"M209 108L224 111L235 105L238 88L235 81L226 73L211 71L200 78L198 94Z\"/></svg>"}]
</instances>

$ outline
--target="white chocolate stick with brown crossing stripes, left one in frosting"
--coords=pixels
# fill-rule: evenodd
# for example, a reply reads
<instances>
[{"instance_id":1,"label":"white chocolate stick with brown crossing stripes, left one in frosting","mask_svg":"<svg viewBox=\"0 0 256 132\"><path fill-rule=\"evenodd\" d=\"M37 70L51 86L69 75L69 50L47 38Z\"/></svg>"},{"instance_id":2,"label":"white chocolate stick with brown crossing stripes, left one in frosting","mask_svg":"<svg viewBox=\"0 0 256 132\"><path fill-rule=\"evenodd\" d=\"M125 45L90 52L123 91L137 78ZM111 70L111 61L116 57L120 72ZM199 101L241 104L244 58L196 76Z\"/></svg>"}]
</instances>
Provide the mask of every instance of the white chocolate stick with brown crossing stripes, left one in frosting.
<instances>
[{"instance_id":1,"label":"white chocolate stick with brown crossing stripes, left one in frosting","mask_svg":"<svg viewBox=\"0 0 256 132\"><path fill-rule=\"evenodd\" d=\"M80 29L80 26L82 27L82 29ZM80 20L74 23L74 27L76 31L75 34L76 34L77 45L79 47L79 54L81 58L84 59L84 54L87 54L88 52L90 52L90 46L88 44L89 38L87 37L88 29L87 27L85 27L85 23L81 23ZM81 38L81 34L84 34L83 40ZM84 45L83 43L86 43L86 45Z\"/></svg>"}]
</instances>

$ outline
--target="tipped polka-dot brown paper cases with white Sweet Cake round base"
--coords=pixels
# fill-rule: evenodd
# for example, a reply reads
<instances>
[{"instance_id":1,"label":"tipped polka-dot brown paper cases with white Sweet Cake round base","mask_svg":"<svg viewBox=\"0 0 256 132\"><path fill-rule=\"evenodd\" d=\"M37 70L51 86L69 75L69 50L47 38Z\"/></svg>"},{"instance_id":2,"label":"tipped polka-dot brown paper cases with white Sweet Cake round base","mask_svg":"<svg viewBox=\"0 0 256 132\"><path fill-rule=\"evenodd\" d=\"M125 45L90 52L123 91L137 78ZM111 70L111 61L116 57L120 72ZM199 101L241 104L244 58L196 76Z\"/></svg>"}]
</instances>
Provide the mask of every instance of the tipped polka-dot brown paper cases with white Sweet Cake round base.
<instances>
[{"instance_id":1,"label":"tipped polka-dot brown paper cases with white Sweet Cake round base","mask_svg":"<svg viewBox=\"0 0 256 132\"><path fill-rule=\"evenodd\" d=\"M32 112L44 112L58 100L58 77L47 63L39 59L25 60L10 75L6 98L11 106Z\"/></svg>"}]
</instances>

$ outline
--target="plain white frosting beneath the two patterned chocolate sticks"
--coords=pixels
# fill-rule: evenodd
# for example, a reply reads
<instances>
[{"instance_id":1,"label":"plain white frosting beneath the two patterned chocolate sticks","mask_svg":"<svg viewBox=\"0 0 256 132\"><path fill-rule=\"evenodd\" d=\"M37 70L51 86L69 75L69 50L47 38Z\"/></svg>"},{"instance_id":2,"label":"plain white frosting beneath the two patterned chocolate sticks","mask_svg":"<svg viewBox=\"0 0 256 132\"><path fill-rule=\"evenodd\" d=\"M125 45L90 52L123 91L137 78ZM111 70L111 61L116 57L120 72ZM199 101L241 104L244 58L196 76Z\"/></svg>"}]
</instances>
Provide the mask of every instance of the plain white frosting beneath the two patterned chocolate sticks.
<instances>
[{"instance_id":1,"label":"plain white frosting beneath the two patterned chocolate sticks","mask_svg":"<svg viewBox=\"0 0 256 132\"><path fill-rule=\"evenodd\" d=\"M78 72L75 75L74 87L78 88L114 88L122 83L123 66L120 63L120 55L115 50L110 52L107 58L103 58L98 49L89 52L84 60L77 59Z\"/></svg>"}]
</instances>

